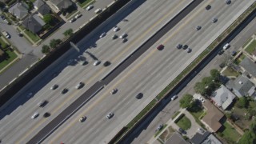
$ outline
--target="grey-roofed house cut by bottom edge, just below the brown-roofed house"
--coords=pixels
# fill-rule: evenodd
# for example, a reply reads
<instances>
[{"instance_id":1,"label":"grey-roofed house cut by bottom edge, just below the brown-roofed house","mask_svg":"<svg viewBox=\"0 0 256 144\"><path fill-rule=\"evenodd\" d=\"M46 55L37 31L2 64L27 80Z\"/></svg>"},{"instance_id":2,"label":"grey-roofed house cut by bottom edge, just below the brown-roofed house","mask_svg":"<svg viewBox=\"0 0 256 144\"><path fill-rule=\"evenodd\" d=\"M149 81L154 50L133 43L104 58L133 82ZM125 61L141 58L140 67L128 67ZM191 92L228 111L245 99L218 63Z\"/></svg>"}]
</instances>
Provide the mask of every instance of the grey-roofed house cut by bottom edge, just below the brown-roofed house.
<instances>
[{"instance_id":1,"label":"grey-roofed house cut by bottom edge, just below the brown-roofed house","mask_svg":"<svg viewBox=\"0 0 256 144\"><path fill-rule=\"evenodd\" d=\"M190 139L190 142L192 144L222 144L222 142L218 140L218 138L216 138L214 134L211 134L208 131L204 132L203 134L195 134L194 137Z\"/></svg>"}]
</instances>

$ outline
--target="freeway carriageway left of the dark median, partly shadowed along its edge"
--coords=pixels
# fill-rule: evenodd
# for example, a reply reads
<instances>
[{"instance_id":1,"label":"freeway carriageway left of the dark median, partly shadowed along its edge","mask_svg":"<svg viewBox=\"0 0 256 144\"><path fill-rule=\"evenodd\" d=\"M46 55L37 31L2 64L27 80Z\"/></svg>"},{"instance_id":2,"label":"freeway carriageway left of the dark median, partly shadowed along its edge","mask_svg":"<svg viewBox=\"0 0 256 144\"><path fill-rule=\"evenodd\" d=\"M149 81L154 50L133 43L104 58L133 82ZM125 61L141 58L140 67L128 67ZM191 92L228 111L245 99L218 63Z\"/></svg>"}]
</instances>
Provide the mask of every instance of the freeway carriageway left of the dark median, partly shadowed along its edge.
<instances>
[{"instance_id":1,"label":"freeway carriageway left of the dark median, partly shadowed along its edge","mask_svg":"<svg viewBox=\"0 0 256 144\"><path fill-rule=\"evenodd\" d=\"M150 5L143 5L144 1L130 2L123 10L120 10L113 18L108 19L97 30L94 30L81 42L78 47L81 52L69 50L66 54L59 58L52 66L39 74L32 82L18 92L17 99L11 101L11 105L1 111L0 134L2 142L24 143L37 134L42 127L50 123L58 116L67 106L70 106L78 96L83 94L95 82L103 78L109 71L122 61L123 58L132 53L142 42L145 42L150 35L159 30L166 22L173 18L174 15L186 6L186 1L166 2L150 2ZM166 4L166 5L165 5ZM152 7L153 5L154 7ZM138 10L139 6L145 8L144 11ZM159 15L162 8L165 17ZM172 9L172 10L169 10ZM137 13L137 17L130 17L130 13ZM148 13L150 12L150 14ZM149 18L150 15L154 19ZM123 22L122 18L128 19ZM142 18L142 19L139 19ZM114 34L113 27L118 25L121 30L116 34L126 32L128 41L122 43L120 39L112 40ZM137 27L138 26L138 27ZM105 38L98 39L102 32L106 32ZM93 66L94 59L84 51L90 52L90 55L105 62L111 62L110 66L103 67ZM86 66L78 64L82 55L89 62ZM85 82L81 90L75 90L74 86L78 82ZM57 90L50 90L50 86L58 84ZM60 94L63 88L68 88L67 94ZM30 95L31 94L31 95ZM37 106L38 102L46 99L49 103L44 108ZM39 113L39 117L35 120L30 119L34 112ZM50 112L49 118L42 118L42 114Z\"/></svg>"}]
</instances>

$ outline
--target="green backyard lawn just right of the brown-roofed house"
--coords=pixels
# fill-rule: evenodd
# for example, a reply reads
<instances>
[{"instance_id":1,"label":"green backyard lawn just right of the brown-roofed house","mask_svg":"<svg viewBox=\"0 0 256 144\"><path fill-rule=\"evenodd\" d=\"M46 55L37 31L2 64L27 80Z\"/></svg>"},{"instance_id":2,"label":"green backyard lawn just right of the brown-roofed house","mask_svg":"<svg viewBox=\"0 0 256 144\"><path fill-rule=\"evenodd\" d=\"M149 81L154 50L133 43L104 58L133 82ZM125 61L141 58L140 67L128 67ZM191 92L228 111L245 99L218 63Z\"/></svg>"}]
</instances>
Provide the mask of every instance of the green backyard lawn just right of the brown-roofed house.
<instances>
[{"instance_id":1,"label":"green backyard lawn just right of the brown-roofed house","mask_svg":"<svg viewBox=\"0 0 256 144\"><path fill-rule=\"evenodd\" d=\"M237 142L239 138L241 138L241 135L238 134L237 130L235 130L233 126L230 126L228 122L224 122L223 126L225 129L221 132L223 134L222 138L225 138L226 140L234 143Z\"/></svg>"}]
</instances>

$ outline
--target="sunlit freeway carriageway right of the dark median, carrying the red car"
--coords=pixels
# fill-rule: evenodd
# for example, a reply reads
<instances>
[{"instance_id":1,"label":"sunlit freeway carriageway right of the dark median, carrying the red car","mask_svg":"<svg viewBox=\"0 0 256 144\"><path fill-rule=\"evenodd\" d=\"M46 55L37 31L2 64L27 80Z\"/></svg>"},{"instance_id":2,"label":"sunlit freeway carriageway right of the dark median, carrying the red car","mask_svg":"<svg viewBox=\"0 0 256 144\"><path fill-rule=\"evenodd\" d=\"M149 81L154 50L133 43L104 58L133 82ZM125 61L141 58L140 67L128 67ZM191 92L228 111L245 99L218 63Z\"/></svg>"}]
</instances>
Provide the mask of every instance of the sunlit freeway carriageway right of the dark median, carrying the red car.
<instances>
[{"instance_id":1,"label":"sunlit freeway carriageway right of the dark median, carrying the red car","mask_svg":"<svg viewBox=\"0 0 256 144\"><path fill-rule=\"evenodd\" d=\"M210 12L205 10L208 2L213 6ZM46 142L108 142L252 2L233 2L230 7L221 2L203 2L110 82L89 105L78 110L78 113L46 138ZM217 23L211 22L214 17L218 18ZM202 30L197 31L195 27L198 22ZM178 42L188 44L192 52L188 54L185 50L177 50L175 46ZM156 50L161 43L165 46L164 50ZM118 93L111 95L110 91L114 88L118 88ZM143 98L138 100L135 95L140 92ZM110 111L114 112L114 118L108 120L105 117ZM78 122L82 116L87 117L84 123Z\"/></svg>"}]
</instances>

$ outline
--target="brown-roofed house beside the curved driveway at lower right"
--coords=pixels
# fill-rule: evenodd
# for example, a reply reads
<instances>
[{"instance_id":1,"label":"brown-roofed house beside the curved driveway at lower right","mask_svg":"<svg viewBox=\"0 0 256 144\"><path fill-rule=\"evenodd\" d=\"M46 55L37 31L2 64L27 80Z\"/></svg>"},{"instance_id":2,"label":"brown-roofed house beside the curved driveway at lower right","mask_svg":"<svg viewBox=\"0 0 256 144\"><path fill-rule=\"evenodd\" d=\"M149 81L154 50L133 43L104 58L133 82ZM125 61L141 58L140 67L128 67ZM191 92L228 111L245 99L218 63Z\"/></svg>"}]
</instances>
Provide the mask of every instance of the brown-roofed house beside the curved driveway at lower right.
<instances>
[{"instance_id":1,"label":"brown-roofed house beside the curved driveway at lower right","mask_svg":"<svg viewBox=\"0 0 256 144\"><path fill-rule=\"evenodd\" d=\"M203 104L206 108L206 115L202 118L202 123L204 123L211 132L218 131L222 124L220 123L221 119L224 117L224 114L217 107L215 107L209 100L206 100Z\"/></svg>"}]
</instances>

